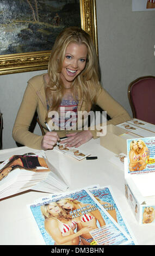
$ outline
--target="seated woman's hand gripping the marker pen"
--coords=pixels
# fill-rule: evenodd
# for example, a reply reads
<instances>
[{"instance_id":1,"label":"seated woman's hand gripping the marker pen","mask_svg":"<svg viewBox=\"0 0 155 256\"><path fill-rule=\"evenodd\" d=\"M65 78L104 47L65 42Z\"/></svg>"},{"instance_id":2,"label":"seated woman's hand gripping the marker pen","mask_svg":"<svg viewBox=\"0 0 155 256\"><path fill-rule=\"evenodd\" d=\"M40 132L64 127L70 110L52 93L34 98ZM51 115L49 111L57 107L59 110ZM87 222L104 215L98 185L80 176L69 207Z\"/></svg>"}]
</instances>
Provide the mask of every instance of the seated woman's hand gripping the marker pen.
<instances>
[{"instance_id":1,"label":"seated woman's hand gripping the marker pen","mask_svg":"<svg viewBox=\"0 0 155 256\"><path fill-rule=\"evenodd\" d=\"M46 135L42 138L41 149L53 149L54 145L59 141L59 136L57 132L46 132Z\"/></svg>"}]
</instances>

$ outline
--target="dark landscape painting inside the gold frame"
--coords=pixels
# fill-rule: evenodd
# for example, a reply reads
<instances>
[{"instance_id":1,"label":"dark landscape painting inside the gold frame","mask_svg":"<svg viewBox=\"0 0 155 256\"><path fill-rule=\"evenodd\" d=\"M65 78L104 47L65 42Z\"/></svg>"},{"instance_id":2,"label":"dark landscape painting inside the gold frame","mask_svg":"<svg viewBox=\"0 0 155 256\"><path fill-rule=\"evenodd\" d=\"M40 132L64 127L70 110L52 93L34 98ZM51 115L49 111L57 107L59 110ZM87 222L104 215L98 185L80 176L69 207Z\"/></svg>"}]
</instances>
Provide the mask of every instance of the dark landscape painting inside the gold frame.
<instances>
[{"instance_id":1,"label":"dark landscape painting inside the gold frame","mask_svg":"<svg viewBox=\"0 0 155 256\"><path fill-rule=\"evenodd\" d=\"M68 26L81 26L77 0L1 0L0 52L50 51Z\"/></svg>"}]
</instances>

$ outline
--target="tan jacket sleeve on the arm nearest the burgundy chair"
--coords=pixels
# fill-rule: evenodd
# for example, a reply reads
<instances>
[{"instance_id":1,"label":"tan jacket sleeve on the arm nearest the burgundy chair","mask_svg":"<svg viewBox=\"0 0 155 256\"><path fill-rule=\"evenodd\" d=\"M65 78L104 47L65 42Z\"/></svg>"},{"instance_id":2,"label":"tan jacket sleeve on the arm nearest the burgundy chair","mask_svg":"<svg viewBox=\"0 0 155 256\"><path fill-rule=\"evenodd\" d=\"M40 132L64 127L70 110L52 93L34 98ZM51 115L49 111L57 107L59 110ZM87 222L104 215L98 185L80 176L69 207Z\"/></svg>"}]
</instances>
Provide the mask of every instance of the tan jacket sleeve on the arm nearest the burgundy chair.
<instances>
[{"instance_id":1,"label":"tan jacket sleeve on the arm nearest the burgundy chair","mask_svg":"<svg viewBox=\"0 0 155 256\"><path fill-rule=\"evenodd\" d=\"M103 111L107 111L107 114L111 118L107 121L107 125L117 125L131 119L127 111L103 88L98 93L96 105L100 106ZM96 130L91 131L91 133L94 138L97 138Z\"/></svg>"}]
</instances>

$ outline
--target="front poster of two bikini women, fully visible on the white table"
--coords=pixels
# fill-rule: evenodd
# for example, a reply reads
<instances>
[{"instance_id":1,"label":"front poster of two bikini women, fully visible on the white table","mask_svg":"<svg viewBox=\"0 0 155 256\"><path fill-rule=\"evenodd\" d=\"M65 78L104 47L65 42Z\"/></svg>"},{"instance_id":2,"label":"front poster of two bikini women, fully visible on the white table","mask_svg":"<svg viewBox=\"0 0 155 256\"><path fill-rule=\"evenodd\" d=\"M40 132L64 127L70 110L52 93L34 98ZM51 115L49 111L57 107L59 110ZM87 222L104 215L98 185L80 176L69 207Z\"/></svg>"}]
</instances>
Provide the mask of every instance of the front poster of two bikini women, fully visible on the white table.
<instances>
[{"instance_id":1,"label":"front poster of two bikini women, fully visible on the white table","mask_svg":"<svg viewBox=\"0 0 155 256\"><path fill-rule=\"evenodd\" d=\"M131 242L126 231L85 189L52 196L46 202L40 200L28 205L28 209L45 245L126 245Z\"/></svg>"}]
</instances>

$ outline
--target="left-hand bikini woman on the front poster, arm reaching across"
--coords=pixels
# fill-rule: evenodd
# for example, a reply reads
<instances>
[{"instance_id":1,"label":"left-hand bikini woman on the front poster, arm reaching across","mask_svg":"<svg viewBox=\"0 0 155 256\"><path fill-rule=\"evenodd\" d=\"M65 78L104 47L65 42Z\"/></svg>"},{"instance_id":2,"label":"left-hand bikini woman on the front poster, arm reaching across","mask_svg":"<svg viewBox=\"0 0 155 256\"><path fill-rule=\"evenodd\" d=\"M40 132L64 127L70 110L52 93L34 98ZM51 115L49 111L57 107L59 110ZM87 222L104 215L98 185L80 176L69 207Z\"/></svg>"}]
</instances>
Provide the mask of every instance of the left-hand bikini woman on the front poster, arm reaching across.
<instances>
[{"instance_id":1,"label":"left-hand bikini woman on the front poster, arm reaching across","mask_svg":"<svg viewBox=\"0 0 155 256\"><path fill-rule=\"evenodd\" d=\"M41 212L45 218L45 229L55 245L83 245L79 236L88 233L91 228L83 228L75 233L76 222L56 202L42 205Z\"/></svg>"}]
</instances>

